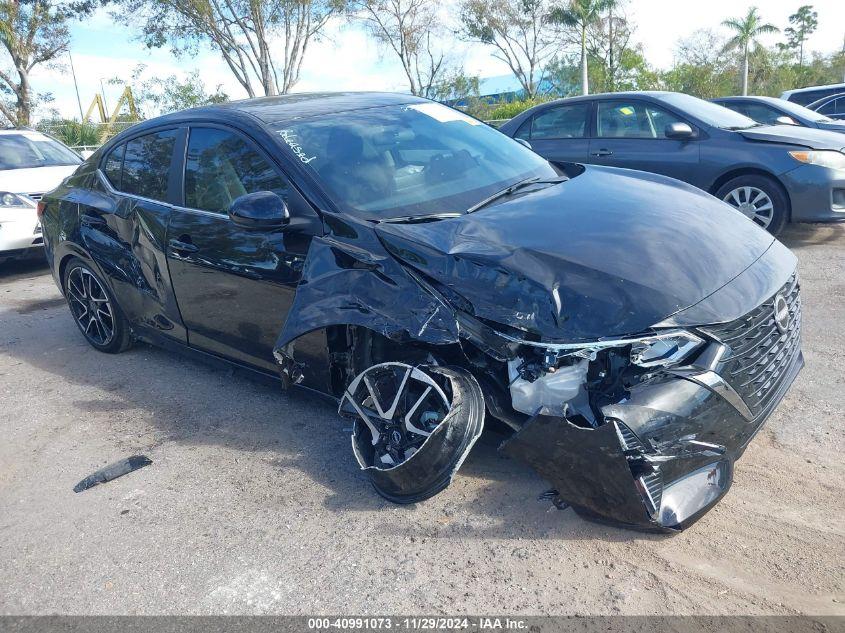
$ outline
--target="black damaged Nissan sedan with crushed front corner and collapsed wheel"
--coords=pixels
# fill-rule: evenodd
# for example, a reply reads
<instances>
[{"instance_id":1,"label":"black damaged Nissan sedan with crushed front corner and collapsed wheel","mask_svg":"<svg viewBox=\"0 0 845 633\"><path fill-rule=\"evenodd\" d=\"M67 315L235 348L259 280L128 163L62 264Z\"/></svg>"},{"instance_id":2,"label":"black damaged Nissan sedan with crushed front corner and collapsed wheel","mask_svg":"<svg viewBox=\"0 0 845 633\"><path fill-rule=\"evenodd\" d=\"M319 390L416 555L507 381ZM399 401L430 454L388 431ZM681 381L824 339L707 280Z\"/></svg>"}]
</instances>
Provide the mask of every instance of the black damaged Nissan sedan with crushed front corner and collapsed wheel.
<instances>
[{"instance_id":1,"label":"black damaged Nissan sedan with crushed front corner and collapsed wheel","mask_svg":"<svg viewBox=\"0 0 845 633\"><path fill-rule=\"evenodd\" d=\"M147 121L39 213L94 348L332 396L401 503L444 489L493 417L559 504L682 528L803 365L796 259L741 213L662 176L562 171L407 95Z\"/></svg>"}]
</instances>

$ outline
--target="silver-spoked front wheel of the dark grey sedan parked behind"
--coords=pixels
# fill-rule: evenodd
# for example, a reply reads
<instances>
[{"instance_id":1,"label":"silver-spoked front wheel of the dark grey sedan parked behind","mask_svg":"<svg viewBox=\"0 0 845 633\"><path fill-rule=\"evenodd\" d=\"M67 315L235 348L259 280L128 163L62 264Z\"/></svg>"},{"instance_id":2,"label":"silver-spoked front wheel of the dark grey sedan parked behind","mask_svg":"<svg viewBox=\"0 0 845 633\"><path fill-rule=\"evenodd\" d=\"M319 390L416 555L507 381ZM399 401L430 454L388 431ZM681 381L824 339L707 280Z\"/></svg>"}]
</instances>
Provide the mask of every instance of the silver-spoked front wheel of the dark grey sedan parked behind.
<instances>
[{"instance_id":1,"label":"silver-spoked front wheel of the dark grey sedan parked behind","mask_svg":"<svg viewBox=\"0 0 845 633\"><path fill-rule=\"evenodd\" d=\"M789 203L771 178L755 174L738 176L722 185L716 197L773 235L780 233L786 224Z\"/></svg>"}]
</instances>

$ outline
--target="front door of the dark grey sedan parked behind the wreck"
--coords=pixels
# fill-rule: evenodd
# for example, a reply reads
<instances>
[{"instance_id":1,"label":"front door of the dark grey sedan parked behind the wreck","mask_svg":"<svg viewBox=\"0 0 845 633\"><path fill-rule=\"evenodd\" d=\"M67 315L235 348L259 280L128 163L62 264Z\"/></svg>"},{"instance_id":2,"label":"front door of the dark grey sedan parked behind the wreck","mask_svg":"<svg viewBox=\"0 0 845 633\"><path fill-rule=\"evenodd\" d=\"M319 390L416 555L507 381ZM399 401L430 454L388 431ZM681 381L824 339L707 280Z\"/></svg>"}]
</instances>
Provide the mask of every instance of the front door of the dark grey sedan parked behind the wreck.
<instances>
[{"instance_id":1,"label":"front door of the dark grey sedan parked behind the wreck","mask_svg":"<svg viewBox=\"0 0 845 633\"><path fill-rule=\"evenodd\" d=\"M595 137L588 162L664 174L702 186L699 141L666 137L666 126L686 123L669 110L639 99L596 102Z\"/></svg>"}]
</instances>

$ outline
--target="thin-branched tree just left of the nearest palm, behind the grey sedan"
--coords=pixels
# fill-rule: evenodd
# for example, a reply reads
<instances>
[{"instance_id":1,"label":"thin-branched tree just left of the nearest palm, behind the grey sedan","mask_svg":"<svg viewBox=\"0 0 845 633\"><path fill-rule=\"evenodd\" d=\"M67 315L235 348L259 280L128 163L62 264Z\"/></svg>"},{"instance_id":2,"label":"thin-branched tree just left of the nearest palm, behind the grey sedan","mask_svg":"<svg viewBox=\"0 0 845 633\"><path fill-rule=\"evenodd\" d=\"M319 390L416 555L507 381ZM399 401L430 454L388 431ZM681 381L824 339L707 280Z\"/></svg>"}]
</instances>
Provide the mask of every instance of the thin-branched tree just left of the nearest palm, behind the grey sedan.
<instances>
[{"instance_id":1,"label":"thin-branched tree just left of the nearest palm, behind the grey sedan","mask_svg":"<svg viewBox=\"0 0 845 633\"><path fill-rule=\"evenodd\" d=\"M560 50L560 26L551 19L549 0L463 0L461 36L493 48L493 57L505 62L533 98L543 69Z\"/></svg>"}]
</instances>

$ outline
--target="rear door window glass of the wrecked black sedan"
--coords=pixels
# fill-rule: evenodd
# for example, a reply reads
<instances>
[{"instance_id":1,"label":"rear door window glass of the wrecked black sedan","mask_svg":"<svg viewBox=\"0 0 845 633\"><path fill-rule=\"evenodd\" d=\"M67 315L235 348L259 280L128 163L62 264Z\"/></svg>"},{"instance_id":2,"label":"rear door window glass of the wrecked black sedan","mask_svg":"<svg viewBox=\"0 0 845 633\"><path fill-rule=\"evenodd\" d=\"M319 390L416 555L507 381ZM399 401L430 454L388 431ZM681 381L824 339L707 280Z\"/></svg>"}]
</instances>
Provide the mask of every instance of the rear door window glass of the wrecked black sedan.
<instances>
[{"instance_id":1,"label":"rear door window glass of the wrecked black sedan","mask_svg":"<svg viewBox=\"0 0 845 633\"><path fill-rule=\"evenodd\" d=\"M167 200L170 161L178 133L166 130L126 143L120 190L151 200Z\"/></svg>"}]
</instances>

